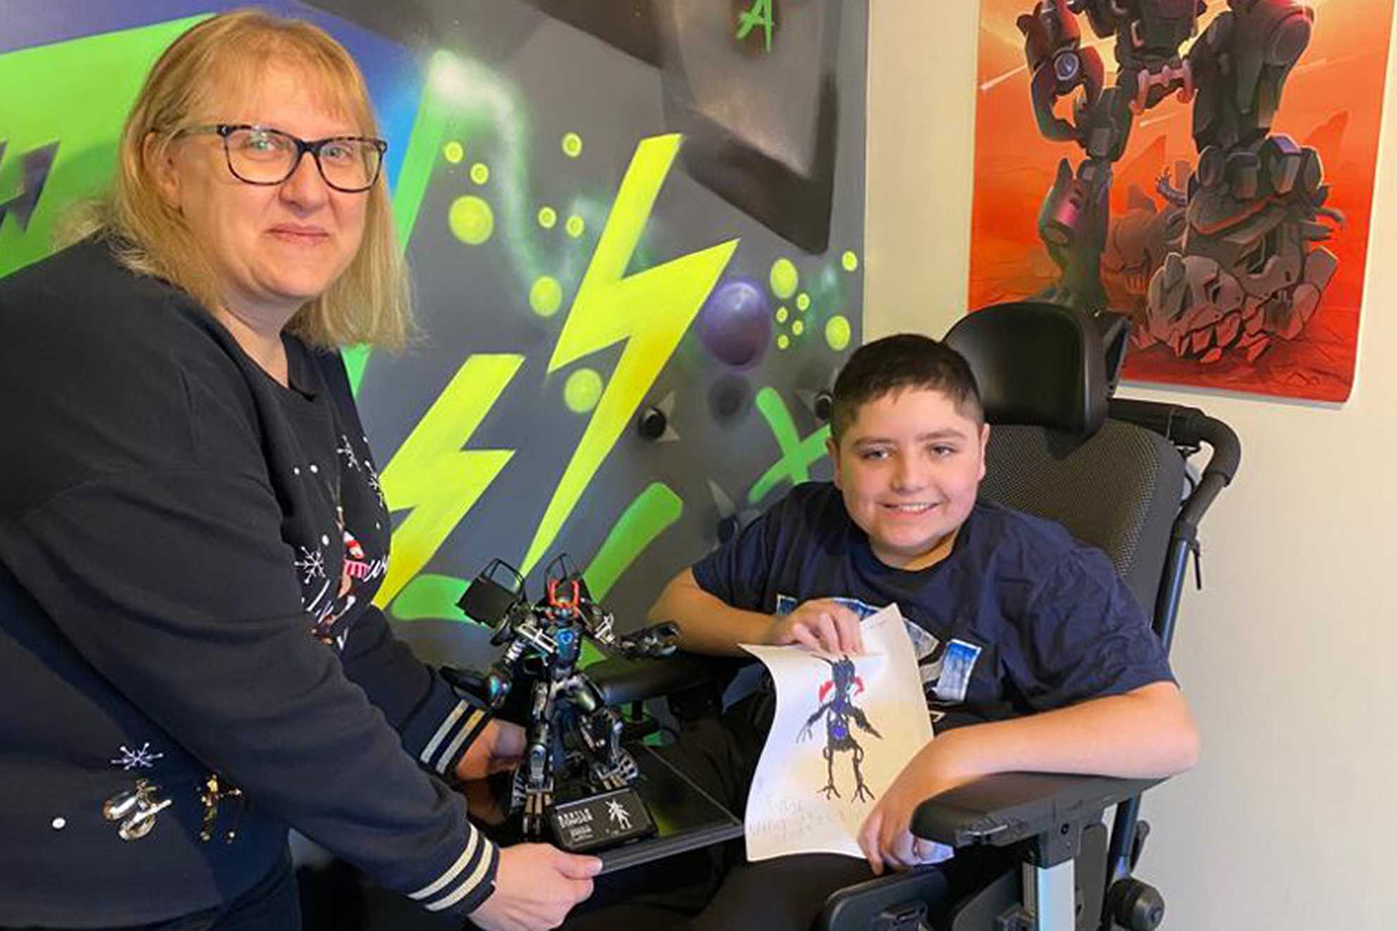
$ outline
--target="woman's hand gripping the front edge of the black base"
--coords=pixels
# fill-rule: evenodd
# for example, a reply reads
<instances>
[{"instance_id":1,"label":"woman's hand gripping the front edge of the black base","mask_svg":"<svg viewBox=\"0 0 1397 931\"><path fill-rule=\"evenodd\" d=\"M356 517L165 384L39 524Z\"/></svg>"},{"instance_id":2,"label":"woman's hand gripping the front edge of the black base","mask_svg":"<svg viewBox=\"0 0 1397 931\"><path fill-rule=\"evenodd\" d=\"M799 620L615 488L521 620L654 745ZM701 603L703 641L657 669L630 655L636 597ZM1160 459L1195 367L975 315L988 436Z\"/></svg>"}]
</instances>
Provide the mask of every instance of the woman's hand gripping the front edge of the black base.
<instances>
[{"instance_id":1,"label":"woman's hand gripping the front edge of the black base","mask_svg":"<svg viewBox=\"0 0 1397 931\"><path fill-rule=\"evenodd\" d=\"M574 904L592 895L597 857L563 853L546 843L500 849L495 892L471 921L483 931L546 931L563 924Z\"/></svg>"}]
</instances>

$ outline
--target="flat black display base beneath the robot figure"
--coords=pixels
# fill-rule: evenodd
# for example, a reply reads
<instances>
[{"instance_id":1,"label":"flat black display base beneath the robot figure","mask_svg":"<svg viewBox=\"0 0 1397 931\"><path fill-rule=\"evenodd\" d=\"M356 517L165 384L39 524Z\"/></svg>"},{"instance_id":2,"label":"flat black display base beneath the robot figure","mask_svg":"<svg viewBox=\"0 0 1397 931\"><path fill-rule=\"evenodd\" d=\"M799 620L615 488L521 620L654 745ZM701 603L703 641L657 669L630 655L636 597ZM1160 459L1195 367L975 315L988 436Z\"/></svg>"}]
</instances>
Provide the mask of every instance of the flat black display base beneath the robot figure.
<instances>
[{"instance_id":1,"label":"flat black display base beneath the robot figure","mask_svg":"<svg viewBox=\"0 0 1397 931\"><path fill-rule=\"evenodd\" d=\"M640 779L633 787L622 791L631 791L638 797L638 801L643 803L638 810L645 812L651 828L645 832L648 836L643 836L637 832L640 828L638 819L631 815L631 832L624 836L602 837L597 843L591 843L585 832L580 833L577 843L585 846L571 849L576 851L585 850L591 856L601 857L602 874L637 867L643 863L662 860L742 836L740 818L693 784L687 776L665 762L651 747L629 744L626 750L630 751L636 766L640 769ZM597 804L598 811L592 812L592 825L604 824L601 818L610 819L605 803L612 794L602 793L585 800L599 803ZM489 818L486 811L476 811L479 801L478 797L472 798L472 815L476 815L476 824L485 829L492 840L500 844L513 844L524 840L518 815L507 818L503 824L492 824L492 818ZM557 818L556 812L570 811L570 805L577 804L577 801L564 798L548 814L549 833L552 835L548 839L557 842L559 846L566 846L566 835L556 833L557 829L553 826ZM495 801L496 811L497 804ZM627 814L630 814L629 807ZM571 826L578 826L581 817L569 821L574 822ZM595 832L592 836L595 836Z\"/></svg>"}]
</instances>

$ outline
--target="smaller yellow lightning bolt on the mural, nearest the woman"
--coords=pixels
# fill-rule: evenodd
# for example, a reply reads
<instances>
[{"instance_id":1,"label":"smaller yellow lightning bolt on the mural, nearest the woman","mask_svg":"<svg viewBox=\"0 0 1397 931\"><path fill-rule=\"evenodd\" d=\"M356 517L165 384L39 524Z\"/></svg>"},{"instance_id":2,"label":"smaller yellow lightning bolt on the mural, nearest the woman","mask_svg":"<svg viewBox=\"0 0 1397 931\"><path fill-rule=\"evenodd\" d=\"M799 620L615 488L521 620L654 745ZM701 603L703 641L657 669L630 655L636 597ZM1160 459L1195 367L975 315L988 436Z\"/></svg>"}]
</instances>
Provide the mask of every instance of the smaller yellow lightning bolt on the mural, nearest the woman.
<instances>
[{"instance_id":1,"label":"smaller yellow lightning bolt on the mural, nearest the woman","mask_svg":"<svg viewBox=\"0 0 1397 931\"><path fill-rule=\"evenodd\" d=\"M427 564L514 456L514 449L461 447L469 442L521 364L524 356L503 353L467 359L383 470L388 508L412 508L412 514L393 532L393 560L373 599L379 607L391 602Z\"/></svg>"}]
</instances>

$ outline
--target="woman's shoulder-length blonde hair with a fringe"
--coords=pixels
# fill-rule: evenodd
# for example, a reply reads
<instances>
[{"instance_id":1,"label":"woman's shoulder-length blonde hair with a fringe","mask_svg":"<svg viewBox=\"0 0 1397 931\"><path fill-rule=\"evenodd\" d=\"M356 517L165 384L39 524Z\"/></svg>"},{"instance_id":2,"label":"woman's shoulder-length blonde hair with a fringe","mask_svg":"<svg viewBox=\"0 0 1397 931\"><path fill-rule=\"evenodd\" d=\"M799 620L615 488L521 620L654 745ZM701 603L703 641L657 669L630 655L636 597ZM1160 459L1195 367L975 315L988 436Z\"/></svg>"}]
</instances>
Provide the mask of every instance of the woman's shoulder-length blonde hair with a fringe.
<instances>
[{"instance_id":1,"label":"woman's shoulder-length blonde hair with a fringe","mask_svg":"<svg viewBox=\"0 0 1397 931\"><path fill-rule=\"evenodd\" d=\"M175 134L189 126L215 87L249 87L272 59L314 78L307 85L327 112L355 121L363 135L379 134L363 75L344 46L300 20L233 10L194 25L161 54L126 117L110 190L102 200L80 207L63 237L99 234L133 272L163 278L205 307L218 306L219 283L204 246L190 234L180 212L161 197L152 165L166 156ZM365 197L369 202L359 251L344 274L286 325L307 343L401 349L412 332L412 289L381 172Z\"/></svg>"}]
</instances>

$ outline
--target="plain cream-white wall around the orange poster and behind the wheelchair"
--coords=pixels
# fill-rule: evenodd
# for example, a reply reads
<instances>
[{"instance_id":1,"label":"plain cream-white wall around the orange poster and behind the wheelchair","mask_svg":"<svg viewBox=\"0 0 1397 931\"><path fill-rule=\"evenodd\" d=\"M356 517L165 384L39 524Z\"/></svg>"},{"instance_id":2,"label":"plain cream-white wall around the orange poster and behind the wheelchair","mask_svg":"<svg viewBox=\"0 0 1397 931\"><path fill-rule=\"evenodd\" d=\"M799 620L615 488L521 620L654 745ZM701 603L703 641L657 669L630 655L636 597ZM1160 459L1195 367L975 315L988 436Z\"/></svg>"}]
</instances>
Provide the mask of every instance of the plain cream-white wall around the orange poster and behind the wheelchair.
<instances>
[{"instance_id":1,"label":"plain cream-white wall around the orange poster and behind the wheelchair","mask_svg":"<svg viewBox=\"0 0 1397 931\"><path fill-rule=\"evenodd\" d=\"M940 335L967 300L979 4L872 6L865 332ZM1243 447L1173 649L1203 762L1146 801L1166 928L1397 925L1397 47L1389 66L1351 399L1123 391Z\"/></svg>"}]
</instances>

